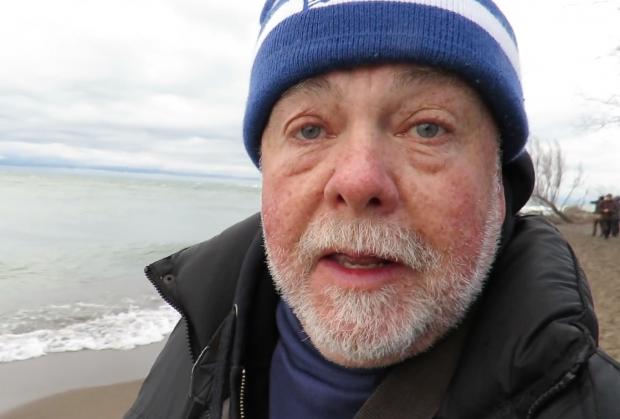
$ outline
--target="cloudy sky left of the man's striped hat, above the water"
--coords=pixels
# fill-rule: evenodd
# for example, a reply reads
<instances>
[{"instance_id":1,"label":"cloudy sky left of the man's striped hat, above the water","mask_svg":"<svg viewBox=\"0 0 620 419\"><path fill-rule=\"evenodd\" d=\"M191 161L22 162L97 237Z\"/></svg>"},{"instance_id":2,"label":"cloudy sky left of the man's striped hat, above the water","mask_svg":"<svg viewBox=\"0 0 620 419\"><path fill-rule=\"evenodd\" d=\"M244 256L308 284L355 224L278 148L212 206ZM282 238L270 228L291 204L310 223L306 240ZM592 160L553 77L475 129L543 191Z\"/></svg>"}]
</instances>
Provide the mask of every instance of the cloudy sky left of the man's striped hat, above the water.
<instances>
[{"instance_id":1,"label":"cloudy sky left of the man's striped hat, above the water","mask_svg":"<svg viewBox=\"0 0 620 419\"><path fill-rule=\"evenodd\" d=\"M0 162L257 176L241 116L260 5L0 6Z\"/></svg>"}]
</instances>

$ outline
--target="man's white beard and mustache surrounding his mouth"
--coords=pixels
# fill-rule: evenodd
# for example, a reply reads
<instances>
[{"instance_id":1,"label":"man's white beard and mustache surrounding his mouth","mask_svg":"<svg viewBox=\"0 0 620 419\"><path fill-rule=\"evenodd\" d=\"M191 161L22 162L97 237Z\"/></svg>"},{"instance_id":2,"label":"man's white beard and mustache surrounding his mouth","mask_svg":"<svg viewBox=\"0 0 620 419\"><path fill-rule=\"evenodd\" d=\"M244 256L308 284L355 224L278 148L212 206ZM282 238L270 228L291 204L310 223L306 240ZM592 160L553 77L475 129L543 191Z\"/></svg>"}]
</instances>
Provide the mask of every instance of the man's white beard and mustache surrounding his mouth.
<instances>
[{"instance_id":1,"label":"man's white beard and mustache surrounding his mouth","mask_svg":"<svg viewBox=\"0 0 620 419\"><path fill-rule=\"evenodd\" d=\"M494 181L501 189L497 176ZM266 240L274 283L314 346L342 365L377 367L427 350L456 326L482 290L501 235L501 194L489 189L475 261L434 249L403 227L368 219L314 220L294 249L273 248ZM395 260L417 275L378 290L332 285L317 295L309 277L325 249Z\"/></svg>"}]
</instances>

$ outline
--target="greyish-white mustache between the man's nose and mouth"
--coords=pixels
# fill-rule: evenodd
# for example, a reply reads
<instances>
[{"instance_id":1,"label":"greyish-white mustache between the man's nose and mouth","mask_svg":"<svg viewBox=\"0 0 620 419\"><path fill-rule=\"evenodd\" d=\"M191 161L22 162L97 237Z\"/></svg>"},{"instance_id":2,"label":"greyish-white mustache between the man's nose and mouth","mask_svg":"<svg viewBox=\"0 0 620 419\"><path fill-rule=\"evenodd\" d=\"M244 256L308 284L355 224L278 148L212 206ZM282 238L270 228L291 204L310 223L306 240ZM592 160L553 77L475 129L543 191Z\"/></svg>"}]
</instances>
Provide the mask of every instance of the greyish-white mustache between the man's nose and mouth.
<instances>
[{"instance_id":1,"label":"greyish-white mustache between the man's nose and mouth","mask_svg":"<svg viewBox=\"0 0 620 419\"><path fill-rule=\"evenodd\" d=\"M329 253L372 255L424 272L438 266L440 252L418 233L373 219L320 217L300 237L297 255L308 270Z\"/></svg>"}]
</instances>

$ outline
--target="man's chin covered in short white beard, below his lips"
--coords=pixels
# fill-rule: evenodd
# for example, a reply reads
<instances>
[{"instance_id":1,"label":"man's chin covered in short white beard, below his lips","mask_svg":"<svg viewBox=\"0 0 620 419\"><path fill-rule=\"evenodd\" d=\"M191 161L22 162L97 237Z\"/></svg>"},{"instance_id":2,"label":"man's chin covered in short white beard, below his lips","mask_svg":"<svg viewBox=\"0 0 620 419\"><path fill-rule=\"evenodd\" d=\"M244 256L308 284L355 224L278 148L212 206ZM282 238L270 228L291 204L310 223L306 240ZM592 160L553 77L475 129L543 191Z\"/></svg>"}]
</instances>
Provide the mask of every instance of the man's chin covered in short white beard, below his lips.
<instances>
[{"instance_id":1,"label":"man's chin covered in short white beard, below his lips","mask_svg":"<svg viewBox=\"0 0 620 419\"><path fill-rule=\"evenodd\" d=\"M349 368L377 368L427 351L458 325L482 287L482 281L465 282L439 293L440 301L427 290L396 284L362 292L328 287L303 301L286 300L326 359Z\"/></svg>"}]
</instances>

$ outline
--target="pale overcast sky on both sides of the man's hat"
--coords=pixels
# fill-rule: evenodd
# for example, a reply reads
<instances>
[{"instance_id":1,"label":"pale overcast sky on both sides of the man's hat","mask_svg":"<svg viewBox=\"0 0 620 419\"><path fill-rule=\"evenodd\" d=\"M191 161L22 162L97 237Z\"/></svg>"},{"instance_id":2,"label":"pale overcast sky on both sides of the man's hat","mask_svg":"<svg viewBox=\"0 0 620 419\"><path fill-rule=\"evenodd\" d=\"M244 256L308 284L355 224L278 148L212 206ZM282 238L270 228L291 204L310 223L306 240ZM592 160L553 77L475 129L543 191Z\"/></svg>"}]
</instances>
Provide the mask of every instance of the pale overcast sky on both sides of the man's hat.
<instances>
[{"instance_id":1,"label":"pale overcast sky on both sides of the man's hat","mask_svg":"<svg viewBox=\"0 0 620 419\"><path fill-rule=\"evenodd\" d=\"M620 5L498 0L521 50L533 136L620 193ZM261 1L0 5L0 164L257 177L241 142Z\"/></svg>"}]
</instances>

